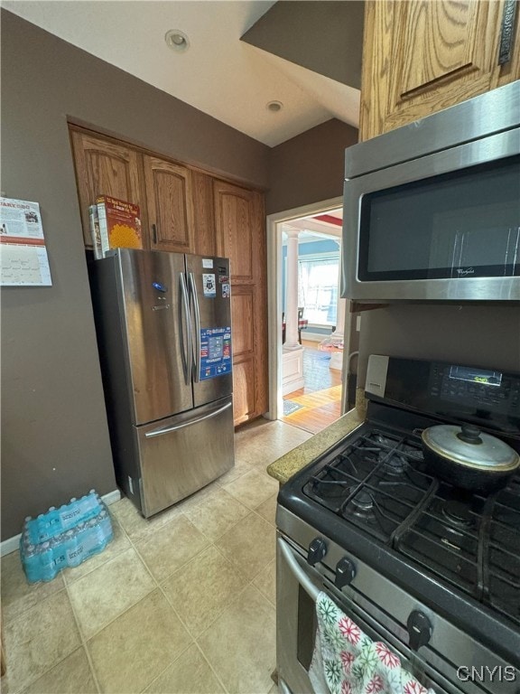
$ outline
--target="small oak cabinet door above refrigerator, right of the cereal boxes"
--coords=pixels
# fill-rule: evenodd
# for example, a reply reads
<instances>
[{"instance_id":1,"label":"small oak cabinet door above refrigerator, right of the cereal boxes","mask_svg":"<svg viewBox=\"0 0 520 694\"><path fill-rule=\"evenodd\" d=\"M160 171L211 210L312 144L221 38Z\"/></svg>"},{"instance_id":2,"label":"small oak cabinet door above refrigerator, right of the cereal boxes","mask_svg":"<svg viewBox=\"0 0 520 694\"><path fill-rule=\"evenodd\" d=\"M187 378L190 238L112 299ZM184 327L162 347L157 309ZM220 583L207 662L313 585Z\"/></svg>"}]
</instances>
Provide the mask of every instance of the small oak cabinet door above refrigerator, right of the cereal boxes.
<instances>
[{"instance_id":1,"label":"small oak cabinet door above refrigerator, right of the cereal boxes","mask_svg":"<svg viewBox=\"0 0 520 694\"><path fill-rule=\"evenodd\" d=\"M190 170L144 155L150 248L193 253Z\"/></svg>"}]
</instances>

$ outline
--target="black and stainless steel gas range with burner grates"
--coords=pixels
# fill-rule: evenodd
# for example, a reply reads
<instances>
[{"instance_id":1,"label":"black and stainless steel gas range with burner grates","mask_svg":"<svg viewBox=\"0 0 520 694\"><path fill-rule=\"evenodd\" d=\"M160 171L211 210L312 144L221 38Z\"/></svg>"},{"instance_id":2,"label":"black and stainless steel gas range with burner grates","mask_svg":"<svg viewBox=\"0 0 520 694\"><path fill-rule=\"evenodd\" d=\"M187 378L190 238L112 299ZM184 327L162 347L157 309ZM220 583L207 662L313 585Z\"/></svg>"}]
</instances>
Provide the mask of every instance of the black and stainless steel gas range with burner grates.
<instances>
[{"instance_id":1,"label":"black and stainless steel gas range with burner grates","mask_svg":"<svg viewBox=\"0 0 520 694\"><path fill-rule=\"evenodd\" d=\"M367 384L367 420L283 485L279 541L433 689L518 694L520 474L463 491L424 460L420 435L470 421L519 451L520 375L371 357Z\"/></svg>"}]
</instances>

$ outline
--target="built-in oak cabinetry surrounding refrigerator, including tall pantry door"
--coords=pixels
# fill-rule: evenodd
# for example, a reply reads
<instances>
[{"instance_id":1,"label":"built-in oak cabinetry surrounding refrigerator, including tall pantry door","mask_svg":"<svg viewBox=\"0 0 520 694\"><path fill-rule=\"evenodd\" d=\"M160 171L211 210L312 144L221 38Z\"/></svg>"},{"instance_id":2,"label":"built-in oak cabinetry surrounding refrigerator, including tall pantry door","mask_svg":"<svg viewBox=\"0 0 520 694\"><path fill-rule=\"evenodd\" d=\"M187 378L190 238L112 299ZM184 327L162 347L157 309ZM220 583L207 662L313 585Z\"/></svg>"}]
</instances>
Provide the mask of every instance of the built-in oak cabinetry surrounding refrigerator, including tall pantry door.
<instances>
[{"instance_id":1,"label":"built-in oak cabinetry surrounding refrigerator, including tall pantry door","mask_svg":"<svg viewBox=\"0 0 520 694\"><path fill-rule=\"evenodd\" d=\"M208 172L70 127L83 238L92 248L88 205L98 195L141 209L145 249L230 259L235 425L267 405L264 193Z\"/></svg>"}]
</instances>

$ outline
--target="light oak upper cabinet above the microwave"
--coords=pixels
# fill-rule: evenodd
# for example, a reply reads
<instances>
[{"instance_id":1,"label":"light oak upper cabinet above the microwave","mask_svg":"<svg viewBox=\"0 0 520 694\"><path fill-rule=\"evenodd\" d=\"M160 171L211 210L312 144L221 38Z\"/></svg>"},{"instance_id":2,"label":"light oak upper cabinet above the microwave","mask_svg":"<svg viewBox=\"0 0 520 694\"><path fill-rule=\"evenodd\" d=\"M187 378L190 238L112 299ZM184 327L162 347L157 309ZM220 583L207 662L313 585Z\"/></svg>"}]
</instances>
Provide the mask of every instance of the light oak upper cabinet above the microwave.
<instances>
[{"instance_id":1,"label":"light oak upper cabinet above the microwave","mask_svg":"<svg viewBox=\"0 0 520 694\"><path fill-rule=\"evenodd\" d=\"M507 0L367 0L359 139L520 79ZM511 57L499 64L510 31Z\"/></svg>"}]
</instances>

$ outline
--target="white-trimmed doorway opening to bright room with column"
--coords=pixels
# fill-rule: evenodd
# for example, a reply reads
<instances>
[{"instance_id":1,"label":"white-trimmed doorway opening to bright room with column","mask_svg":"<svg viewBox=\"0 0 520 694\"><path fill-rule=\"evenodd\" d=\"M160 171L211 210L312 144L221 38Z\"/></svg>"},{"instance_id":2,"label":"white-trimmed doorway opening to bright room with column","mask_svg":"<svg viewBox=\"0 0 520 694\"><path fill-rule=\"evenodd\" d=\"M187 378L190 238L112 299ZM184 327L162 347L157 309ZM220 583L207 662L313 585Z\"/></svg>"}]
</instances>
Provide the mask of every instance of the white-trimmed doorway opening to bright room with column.
<instances>
[{"instance_id":1,"label":"white-trimmed doorway opening to bright room with column","mask_svg":"<svg viewBox=\"0 0 520 694\"><path fill-rule=\"evenodd\" d=\"M348 302L339 297L341 224L341 198L267 218L266 416L311 433L346 411L342 369L350 321Z\"/></svg>"}]
</instances>

